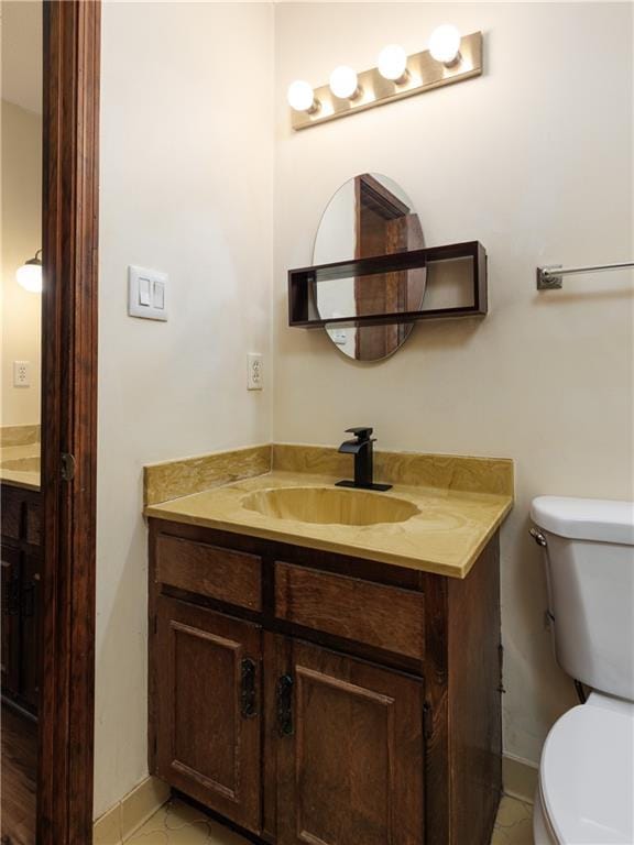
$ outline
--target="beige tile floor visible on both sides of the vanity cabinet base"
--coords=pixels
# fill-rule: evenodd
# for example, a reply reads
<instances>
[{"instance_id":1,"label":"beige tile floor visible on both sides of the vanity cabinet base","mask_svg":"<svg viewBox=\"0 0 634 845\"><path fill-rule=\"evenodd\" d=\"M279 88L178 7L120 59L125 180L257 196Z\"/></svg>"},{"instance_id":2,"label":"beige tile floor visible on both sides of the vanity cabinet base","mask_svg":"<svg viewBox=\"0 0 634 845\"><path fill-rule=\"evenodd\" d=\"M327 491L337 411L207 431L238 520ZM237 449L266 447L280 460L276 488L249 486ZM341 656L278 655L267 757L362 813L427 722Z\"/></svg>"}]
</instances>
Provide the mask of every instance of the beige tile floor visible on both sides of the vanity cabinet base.
<instances>
[{"instance_id":1,"label":"beige tile floor visible on both sides of the vanity cabinet base","mask_svg":"<svg viewBox=\"0 0 634 845\"><path fill-rule=\"evenodd\" d=\"M533 845L533 808L505 797L500 805L491 845ZM158 810L127 845L250 845L199 810L171 801Z\"/></svg>"}]
</instances>

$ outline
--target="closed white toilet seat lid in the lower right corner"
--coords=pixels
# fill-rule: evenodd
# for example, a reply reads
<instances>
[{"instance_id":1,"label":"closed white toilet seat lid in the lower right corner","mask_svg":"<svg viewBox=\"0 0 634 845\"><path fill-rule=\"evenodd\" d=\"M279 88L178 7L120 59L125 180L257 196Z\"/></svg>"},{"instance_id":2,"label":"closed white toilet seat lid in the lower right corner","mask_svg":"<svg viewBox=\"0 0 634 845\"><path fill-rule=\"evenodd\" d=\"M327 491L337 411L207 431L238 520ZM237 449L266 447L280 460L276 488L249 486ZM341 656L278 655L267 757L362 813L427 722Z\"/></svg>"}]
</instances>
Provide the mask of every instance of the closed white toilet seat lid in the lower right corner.
<instances>
[{"instance_id":1,"label":"closed white toilet seat lid in the lower right corner","mask_svg":"<svg viewBox=\"0 0 634 845\"><path fill-rule=\"evenodd\" d=\"M592 693L565 713L544 746L539 792L562 845L633 845L634 703Z\"/></svg>"}]
</instances>

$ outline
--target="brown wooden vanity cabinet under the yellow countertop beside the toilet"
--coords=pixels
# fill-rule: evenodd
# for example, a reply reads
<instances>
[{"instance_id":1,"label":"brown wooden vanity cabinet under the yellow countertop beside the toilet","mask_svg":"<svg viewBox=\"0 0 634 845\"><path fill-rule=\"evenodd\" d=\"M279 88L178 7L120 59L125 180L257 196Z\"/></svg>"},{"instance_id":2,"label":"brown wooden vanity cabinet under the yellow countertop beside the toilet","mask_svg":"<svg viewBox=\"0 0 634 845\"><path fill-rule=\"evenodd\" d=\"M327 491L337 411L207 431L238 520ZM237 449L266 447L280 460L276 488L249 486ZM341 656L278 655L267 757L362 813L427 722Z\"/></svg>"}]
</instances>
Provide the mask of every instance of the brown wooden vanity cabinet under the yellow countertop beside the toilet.
<instances>
[{"instance_id":1,"label":"brown wooden vanity cabinet under the yellow countertop beside the toilet","mask_svg":"<svg viewBox=\"0 0 634 845\"><path fill-rule=\"evenodd\" d=\"M499 578L150 519L151 771L258 842L489 845Z\"/></svg>"}]
</instances>

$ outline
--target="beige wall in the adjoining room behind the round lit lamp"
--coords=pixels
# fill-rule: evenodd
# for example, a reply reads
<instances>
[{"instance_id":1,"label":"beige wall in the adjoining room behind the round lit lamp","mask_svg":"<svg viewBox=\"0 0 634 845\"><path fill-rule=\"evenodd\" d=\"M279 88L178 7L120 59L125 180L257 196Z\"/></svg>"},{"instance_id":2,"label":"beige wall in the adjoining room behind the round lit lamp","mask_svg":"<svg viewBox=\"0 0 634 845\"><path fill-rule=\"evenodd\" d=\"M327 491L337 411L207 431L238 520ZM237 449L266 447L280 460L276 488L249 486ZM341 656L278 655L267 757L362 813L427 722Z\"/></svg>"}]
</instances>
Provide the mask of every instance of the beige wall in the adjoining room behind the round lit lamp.
<instances>
[{"instance_id":1,"label":"beige wall in the adjoining room behind the round lit lamp","mask_svg":"<svg viewBox=\"0 0 634 845\"><path fill-rule=\"evenodd\" d=\"M42 118L2 100L0 425L40 422L42 297L15 271L42 246ZM13 387L13 361L31 362L31 386Z\"/></svg>"}]
</instances>

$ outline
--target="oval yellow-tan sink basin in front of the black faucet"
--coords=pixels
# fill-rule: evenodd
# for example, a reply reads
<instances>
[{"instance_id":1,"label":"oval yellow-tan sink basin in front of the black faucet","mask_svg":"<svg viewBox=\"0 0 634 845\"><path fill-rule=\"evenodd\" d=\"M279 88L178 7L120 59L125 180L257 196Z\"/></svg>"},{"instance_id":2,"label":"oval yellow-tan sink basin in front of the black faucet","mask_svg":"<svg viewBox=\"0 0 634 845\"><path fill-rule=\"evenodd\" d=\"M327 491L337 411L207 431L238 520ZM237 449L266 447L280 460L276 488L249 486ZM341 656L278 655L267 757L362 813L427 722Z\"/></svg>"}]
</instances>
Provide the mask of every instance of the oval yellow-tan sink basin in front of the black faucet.
<instances>
[{"instance_id":1,"label":"oval yellow-tan sink basin in front of the black faucet","mask_svg":"<svg viewBox=\"0 0 634 845\"><path fill-rule=\"evenodd\" d=\"M338 487L281 487L251 493L242 507L276 519L320 525L404 523L420 511L411 502L380 493Z\"/></svg>"}]
</instances>

